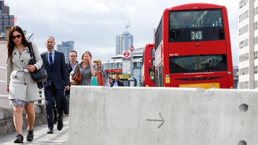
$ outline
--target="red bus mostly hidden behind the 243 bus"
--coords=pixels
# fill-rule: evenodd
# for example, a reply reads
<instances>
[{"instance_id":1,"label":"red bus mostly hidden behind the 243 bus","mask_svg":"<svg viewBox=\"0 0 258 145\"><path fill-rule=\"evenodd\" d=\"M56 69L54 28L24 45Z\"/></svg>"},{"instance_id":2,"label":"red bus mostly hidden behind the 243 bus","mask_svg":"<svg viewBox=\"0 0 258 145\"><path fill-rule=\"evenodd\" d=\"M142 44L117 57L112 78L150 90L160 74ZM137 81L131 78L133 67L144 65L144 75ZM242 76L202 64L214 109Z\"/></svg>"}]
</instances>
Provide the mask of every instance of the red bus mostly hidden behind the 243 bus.
<instances>
[{"instance_id":1,"label":"red bus mostly hidden behind the 243 bus","mask_svg":"<svg viewBox=\"0 0 258 145\"><path fill-rule=\"evenodd\" d=\"M142 56L142 86L155 87L155 51L152 44L146 44Z\"/></svg>"}]
</instances>

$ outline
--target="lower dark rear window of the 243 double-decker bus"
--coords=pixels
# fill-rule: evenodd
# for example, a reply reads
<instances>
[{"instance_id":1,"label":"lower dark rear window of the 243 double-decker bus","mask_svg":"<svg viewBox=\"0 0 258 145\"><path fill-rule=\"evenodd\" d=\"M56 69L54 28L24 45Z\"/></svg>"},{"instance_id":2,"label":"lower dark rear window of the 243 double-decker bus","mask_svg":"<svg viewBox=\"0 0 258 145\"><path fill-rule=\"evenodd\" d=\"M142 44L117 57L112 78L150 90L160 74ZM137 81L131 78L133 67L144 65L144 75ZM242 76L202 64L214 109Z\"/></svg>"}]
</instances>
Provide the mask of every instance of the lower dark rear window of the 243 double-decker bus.
<instances>
[{"instance_id":1,"label":"lower dark rear window of the 243 double-decker bus","mask_svg":"<svg viewBox=\"0 0 258 145\"><path fill-rule=\"evenodd\" d=\"M226 54L169 57L169 73L228 71Z\"/></svg>"}]
</instances>

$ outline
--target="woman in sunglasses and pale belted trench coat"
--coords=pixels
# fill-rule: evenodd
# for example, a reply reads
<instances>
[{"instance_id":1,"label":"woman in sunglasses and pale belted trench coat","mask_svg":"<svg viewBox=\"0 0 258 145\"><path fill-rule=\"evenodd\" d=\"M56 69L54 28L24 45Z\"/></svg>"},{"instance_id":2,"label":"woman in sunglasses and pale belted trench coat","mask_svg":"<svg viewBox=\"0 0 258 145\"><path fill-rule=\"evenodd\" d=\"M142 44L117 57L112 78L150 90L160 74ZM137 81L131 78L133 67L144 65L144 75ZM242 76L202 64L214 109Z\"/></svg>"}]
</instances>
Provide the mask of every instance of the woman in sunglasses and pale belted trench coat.
<instances>
[{"instance_id":1,"label":"woman in sunglasses and pale belted trench coat","mask_svg":"<svg viewBox=\"0 0 258 145\"><path fill-rule=\"evenodd\" d=\"M29 42L26 40L23 30L18 26L13 26L10 30L7 44L6 83L9 100L13 102L13 122L18 134L14 143L23 143L23 107L28 120L26 140L33 140L34 102L38 99L39 93L37 82L33 81L30 73L40 69L43 61L37 46L32 43L36 63L28 65L30 62L28 46Z\"/></svg>"}]
</instances>

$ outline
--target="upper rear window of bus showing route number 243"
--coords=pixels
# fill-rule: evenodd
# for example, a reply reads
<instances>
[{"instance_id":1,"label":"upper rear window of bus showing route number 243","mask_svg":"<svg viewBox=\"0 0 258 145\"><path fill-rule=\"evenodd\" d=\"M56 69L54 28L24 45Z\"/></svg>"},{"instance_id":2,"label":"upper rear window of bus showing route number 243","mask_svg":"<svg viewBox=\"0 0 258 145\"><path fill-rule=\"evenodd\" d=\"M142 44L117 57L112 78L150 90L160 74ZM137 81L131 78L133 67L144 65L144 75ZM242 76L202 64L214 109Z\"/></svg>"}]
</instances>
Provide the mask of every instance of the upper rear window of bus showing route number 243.
<instances>
[{"instance_id":1,"label":"upper rear window of bus showing route number 243","mask_svg":"<svg viewBox=\"0 0 258 145\"><path fill-rule=\"evenodd\" d=\"M221 9L169 12L169 42L225 40Z\"/></svg>"}]
</instances>

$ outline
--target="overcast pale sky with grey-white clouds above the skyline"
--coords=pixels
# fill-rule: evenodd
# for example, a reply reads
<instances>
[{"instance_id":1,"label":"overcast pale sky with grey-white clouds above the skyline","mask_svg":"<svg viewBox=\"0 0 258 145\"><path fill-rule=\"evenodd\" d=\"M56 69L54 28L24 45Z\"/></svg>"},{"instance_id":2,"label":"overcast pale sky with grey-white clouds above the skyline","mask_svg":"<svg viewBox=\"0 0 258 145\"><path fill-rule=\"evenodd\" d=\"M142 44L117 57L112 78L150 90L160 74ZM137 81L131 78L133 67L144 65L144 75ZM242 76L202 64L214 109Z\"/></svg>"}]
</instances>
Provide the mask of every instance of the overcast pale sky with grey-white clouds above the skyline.
<instances>
[{"instance_id":1,"label":"overcast pale sky with grey-white clouds above the skyline","mask_svg":"<svg viewBox=\"0 0 258 145\"><path fill-rule=\"evenodd\" d=\"M135 48L153 42L165 8L187 3L211 3L228 9L233 64L238 65L238 1L227 0L6 0L10 15L17 16L15 25L34 33L39 51L46 51L45 38L55 38L55 49L62 41L74 41L74 50L81 57L90 51L92 59L106 62L115 55L116 35L125 31L124 20L130 20L128 31Z\"/></svg>"}]
</instances>

